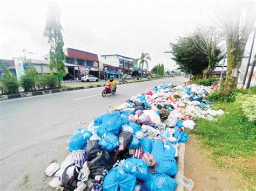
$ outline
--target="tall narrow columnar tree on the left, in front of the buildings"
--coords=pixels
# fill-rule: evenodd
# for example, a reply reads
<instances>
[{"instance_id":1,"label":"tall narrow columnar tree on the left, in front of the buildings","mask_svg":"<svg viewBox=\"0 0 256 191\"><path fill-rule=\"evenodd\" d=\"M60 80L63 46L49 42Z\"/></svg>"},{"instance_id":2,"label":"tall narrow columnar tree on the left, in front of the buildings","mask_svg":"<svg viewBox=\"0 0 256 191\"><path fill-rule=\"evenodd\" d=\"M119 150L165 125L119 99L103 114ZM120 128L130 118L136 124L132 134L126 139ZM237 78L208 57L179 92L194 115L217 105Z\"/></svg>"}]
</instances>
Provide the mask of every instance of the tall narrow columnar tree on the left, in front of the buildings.
<instances>
[{"instance_id":1,"label":"tall narrow columnar tree on the left, in front of the buildings","mask_svg":"<svg viewBox=\"0 0 256 191\"><path fill-rule=\"evenodd\" d=\"M56 69L58 75L58 87L61 87L60 77L66 75L65 71L65 54L63 52L62 25L60 24L60 11L56 3L51 3L47 12L46 26L44 36L48 38L50 44L50 69Z\"/></svg>"}]
</instances>

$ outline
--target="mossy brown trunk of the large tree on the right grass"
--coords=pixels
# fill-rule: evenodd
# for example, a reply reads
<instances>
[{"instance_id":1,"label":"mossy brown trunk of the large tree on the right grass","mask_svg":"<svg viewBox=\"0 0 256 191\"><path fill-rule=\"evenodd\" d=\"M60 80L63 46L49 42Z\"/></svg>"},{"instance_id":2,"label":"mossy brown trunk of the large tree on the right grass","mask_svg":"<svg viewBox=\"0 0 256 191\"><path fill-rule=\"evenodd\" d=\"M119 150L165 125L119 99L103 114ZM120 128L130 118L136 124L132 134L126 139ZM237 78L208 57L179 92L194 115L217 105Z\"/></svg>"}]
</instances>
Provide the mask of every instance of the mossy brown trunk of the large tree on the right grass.
<instances>
[{"instance_id":1,"label":"mossy brown trunk of the large tree on the right grass","mask_svg":"<svg viewBox=\"0 0 256 191\"><path fill-rule=\"evenodd\" d=\"M232 72L234 68L239 67L239 63L242 59L242 47L241 43L238 41L239 40L234 42L232 39L227 40L227 73L220 87L224 95L227 95L230 91L237 88L238 77L233 76Z\"/></svg>"}]
</instances>

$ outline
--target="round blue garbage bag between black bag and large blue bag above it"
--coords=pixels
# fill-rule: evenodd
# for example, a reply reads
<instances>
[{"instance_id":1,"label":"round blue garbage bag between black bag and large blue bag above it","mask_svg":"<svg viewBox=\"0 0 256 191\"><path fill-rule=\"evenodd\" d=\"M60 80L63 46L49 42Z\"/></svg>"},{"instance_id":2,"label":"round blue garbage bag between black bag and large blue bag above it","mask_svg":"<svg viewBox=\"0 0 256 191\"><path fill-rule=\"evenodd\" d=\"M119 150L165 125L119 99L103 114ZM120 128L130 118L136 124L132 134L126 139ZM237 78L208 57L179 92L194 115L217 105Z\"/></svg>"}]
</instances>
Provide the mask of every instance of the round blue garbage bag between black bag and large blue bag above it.
<instances>
[{"instance_id":1,"label":"round blue garbage bag between black bag and large blue bag above it","mask_svg":"<svg viewBox=\"0 0 256 191\"><path fill-rule=\"evenodd\" d=\"M118 137L112 133L105 133L102 138L99 139L99 147L104 151L111 152L119 146Z\"/></svg>"}]
</instances>

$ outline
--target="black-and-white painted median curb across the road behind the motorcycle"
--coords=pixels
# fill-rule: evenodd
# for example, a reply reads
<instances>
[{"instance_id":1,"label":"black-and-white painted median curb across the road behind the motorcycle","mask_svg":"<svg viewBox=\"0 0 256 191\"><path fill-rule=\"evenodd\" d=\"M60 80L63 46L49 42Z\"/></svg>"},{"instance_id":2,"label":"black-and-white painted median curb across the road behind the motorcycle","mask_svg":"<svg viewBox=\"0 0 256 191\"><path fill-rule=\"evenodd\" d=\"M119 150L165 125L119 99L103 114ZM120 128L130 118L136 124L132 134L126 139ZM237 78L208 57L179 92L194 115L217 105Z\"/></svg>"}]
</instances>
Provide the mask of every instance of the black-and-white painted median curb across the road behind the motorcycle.
<instances>
[{"instance_id":1,"label":"black-and-white painted median curb across the road behind the motorcycle","mask_svg":"<svg viewBox=\"0 0 256 191\"><path fill-rule=\"evenodd\" d=\"M154 80L158 80L158 79L154 79ZM147 82L147 81L152 81L152 80L144 80L144 81L138 81L138 82ZM127 83L138 83L138 82L127 82ZM64 82L64 83L68 83L68 82ZM118 85L127 84L127 83L117 82ZM42 91L9 94L9 95L0 95L0 101L11 100L15 98L22 98L22 97L31 97L31 96L37 96L37 95L55 94L55 93L61 93L64 91L75 91L80 89L98 88L98 87L104 87L104 86L105 85L95 85L95 86L86 86L86 87L77 87L77 88L50 89L50 90L42 90Z\"/></svg>"}]
</instances>

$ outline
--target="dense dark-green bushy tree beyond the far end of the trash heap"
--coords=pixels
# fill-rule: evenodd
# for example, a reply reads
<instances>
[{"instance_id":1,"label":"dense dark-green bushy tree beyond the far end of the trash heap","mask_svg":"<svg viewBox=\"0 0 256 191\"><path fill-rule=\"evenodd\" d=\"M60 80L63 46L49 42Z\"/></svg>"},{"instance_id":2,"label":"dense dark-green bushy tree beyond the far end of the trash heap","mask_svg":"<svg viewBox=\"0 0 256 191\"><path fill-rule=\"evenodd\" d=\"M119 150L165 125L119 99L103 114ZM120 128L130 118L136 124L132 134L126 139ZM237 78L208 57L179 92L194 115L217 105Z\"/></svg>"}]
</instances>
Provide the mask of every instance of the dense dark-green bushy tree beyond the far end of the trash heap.
<instances>
[{"instance_id":1,"label":"dense dark-green bushy tree beyond the far end of the trash heap","mask_svg":"<svg viewBox=\"0 0 256 191\"><path fill-rule=\"evenodd\" d=\"M170 43L171 51L165 53L171 53L174 56L172 60L177 62L178 69L182 72L201 75L208 66L207 55L197 48L194 39L201 41L197 34L179 37L177 43Z\"/></svg>"}]
</instances>

